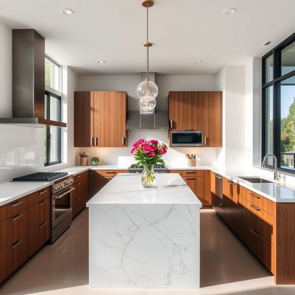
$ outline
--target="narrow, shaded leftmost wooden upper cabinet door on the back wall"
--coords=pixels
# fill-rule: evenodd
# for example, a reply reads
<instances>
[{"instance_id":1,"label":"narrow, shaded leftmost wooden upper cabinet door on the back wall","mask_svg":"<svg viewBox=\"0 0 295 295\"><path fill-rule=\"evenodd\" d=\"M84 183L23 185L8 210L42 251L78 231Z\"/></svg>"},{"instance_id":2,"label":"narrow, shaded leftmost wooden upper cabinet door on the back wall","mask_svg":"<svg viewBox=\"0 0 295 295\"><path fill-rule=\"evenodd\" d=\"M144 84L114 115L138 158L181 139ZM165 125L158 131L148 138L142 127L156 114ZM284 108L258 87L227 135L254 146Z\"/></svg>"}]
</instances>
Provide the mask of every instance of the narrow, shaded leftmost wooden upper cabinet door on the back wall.
<instances>
[{"instance_id":1,"label":"narrow, shaded leftmost wooden upper cabinet door on the back wall","mask_svg":"<svg viewBox=\"0 0 295 295\"><path fill-rule=\"evenodd\" d=\"M74 147L94 145L94 92L74 92Z\"/></svg>"}]
</instances>

